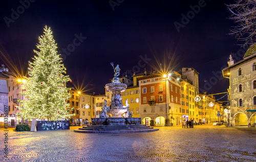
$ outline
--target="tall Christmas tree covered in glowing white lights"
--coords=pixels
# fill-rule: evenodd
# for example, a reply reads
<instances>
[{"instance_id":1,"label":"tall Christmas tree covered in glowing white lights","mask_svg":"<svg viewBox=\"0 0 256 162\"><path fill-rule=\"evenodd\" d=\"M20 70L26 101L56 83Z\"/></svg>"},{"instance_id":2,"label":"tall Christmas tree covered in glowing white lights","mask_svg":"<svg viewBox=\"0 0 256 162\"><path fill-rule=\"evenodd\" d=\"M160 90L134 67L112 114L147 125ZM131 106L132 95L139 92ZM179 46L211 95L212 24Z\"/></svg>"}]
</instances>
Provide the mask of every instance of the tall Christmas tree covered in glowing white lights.
<instances>
[{"instance_id":1,"label":"tall Christmas tree covered in glowing white lights","mask_svg":"<svg viewBox=\"0 0 256 162\"><path fill-rule=\"evenodd\" d=\"M18 115L24 119L68 119L72 109L67 100L71 97L65 83L71 81L66 74L66 68L61 63L62 58L57 54L57 43L52 31L47 26L44 35L36 44L33 61L29 61L27 82L21 92L27 100L22 100L22 112ZM71 81L72 82L72 81Z\"/></svg>"}]
</instances>

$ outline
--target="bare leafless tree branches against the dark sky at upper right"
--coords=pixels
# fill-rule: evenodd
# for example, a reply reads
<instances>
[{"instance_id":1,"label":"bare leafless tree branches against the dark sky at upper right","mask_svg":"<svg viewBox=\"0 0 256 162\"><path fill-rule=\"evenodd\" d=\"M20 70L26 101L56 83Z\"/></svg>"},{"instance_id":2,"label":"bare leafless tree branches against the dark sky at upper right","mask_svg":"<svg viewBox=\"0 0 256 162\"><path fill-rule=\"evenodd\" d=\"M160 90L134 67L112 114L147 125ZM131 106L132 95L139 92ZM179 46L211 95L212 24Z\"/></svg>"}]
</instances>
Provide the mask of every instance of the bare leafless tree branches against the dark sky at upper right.
<instances>
[{"instance_id":1,"label":"bare leafless tree branches against the dark sky at upper right","mask_svg":"<svg viewBox=\"0 0 256 162\"><path fill-rule=\"evenodd\" d=\"M229 19L236 23L229 34L234 35L238 41L241 41L239 43L241 47L248 48L256 42L256 1L237 0L235 3L227 5L231 13Z\"/></svg>"}]
</instances>

